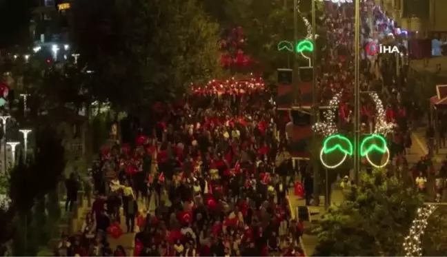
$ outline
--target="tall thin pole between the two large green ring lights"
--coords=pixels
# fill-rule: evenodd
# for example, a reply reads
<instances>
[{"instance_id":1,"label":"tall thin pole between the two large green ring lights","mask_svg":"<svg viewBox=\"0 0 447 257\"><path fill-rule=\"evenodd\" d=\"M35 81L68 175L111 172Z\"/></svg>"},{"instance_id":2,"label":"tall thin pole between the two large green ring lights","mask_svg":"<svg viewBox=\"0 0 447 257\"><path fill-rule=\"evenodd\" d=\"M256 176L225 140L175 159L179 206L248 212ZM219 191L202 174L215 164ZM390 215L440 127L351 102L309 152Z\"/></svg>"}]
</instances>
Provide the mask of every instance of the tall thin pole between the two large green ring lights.
<instances>
[{"instance_id":1,"label":"tall thin pole between the two large green ring lights","mask_svg":"<svg viewBox=\"0 0 447 257\"><path fill-rule=\"evenodd\" d=\"M360 25L360 1L355 1L355 84L354 84L354 174L355 185L359 184L359 172L360 172L360 83L359 83L359 68L360 68L360 56L359 56L359 25Z\"/></svg>"}]
</instances>

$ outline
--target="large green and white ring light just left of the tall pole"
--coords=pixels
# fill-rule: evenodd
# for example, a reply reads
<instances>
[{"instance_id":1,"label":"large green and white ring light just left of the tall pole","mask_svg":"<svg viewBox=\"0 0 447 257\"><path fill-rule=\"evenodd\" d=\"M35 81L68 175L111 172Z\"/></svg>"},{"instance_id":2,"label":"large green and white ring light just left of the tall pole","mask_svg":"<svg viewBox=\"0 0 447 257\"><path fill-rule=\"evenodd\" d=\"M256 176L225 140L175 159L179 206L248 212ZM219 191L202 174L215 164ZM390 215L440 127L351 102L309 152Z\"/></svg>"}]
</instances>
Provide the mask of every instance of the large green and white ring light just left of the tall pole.
<instances>
[{"instance_id":1,"label":"large green and white ring light just left of the tall pole","mask_svg":"<svg viewBox=\"0 0 447 257\"><path fill-rule=\"evenodd\" d=\"M348 149L341 146L340 143L335 143L335 145L329 146L329 144L335 140L346 143L346 145L348 145ZM341 161L339 163L335 165L328 165L324 161L324 154L330 154L332 152L342 152L344 156L343 158L341 158ZM353 152L354 147L352 146L352 143L350 143L349 139L346 138L346 136L341 136L340 134L334 134L332 136L328 136L328 138L324 140L323 148L321 148L320 152L320 161L324 165L324 167L327 167L328 169L335 169L336 167L339 167L339 165L344 163L348 155L351 156Z\"/></svg>"}]
</instances>

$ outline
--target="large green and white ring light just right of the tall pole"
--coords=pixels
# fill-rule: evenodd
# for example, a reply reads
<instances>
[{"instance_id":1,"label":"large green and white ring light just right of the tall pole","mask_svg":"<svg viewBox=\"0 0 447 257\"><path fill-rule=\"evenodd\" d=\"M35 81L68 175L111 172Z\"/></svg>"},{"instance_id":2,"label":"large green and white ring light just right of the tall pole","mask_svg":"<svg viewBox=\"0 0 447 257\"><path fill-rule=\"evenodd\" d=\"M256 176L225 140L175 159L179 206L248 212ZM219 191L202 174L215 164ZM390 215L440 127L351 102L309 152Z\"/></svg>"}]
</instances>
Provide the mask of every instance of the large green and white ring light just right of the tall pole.
<instances>
[{"instance_id":1,"label":"large green and white ring light just right of the tall pole","mask_svg":"<svg viewBox=\"0 0 447 257\"><path fill-rule=\"evenodd\" d=\"M370 143L373 141L373 143ZM379 141L379 143L376 143ZM368 144L370 145L368 146ZM382 165L377 165L373 161L371 161L369 154L371 152L379 152L380 154L386 154L386 161ZM361 141L360 144L360 156L366 157L366 160L368 160L368 163L372 165L373 167L381 168L385 167L388 162L390 161L390 150L388 149L388 145L386 144L386 139L384 136L381 136L379 134L372 134L369 136L366 136L363 141Z\"/></svg>"}]
</instances>

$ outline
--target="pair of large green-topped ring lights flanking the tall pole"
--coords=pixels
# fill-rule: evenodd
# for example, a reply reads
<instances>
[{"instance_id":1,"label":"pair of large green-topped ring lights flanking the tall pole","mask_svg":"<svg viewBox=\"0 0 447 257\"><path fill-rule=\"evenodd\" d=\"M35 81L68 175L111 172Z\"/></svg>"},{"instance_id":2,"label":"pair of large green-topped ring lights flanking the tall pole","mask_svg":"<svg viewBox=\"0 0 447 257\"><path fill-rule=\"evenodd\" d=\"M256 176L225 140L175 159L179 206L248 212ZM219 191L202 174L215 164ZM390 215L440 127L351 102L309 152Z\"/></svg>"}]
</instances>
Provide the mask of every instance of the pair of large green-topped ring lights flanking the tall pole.
<instances>
[{"instance_id":1,"label":"pair of large green-topped ring lights flanking the tall pole","mask_svg":"<svg viewBox=\"0 0 447 257\"><path fill-rule=\"evenodd\" d=\"M328 163L326 163L325 155L335 153L341 153L343 154L343 157L341 157L341 160L337 164L328 165ZM385 167L390 161L390 150L386 145L386 139L384 138L384 136L381 136L379 134L366 136L366 138L361 141L359 153L360 156L365 157L368 163L370 163L370 165L372 165L373 167ZM370 154L373 153L382 154L382 156L386 154L386 160L383 163L375 163L370 158ZM325 139L320 152L320 161L324 165L324 167L327 167L328 169L335 169L336 167L339 167L342 163L344 163L348 156L352 156L352 154L354 154L354 147L352 146L350 140L346 138L346 136L334 134L332 136L328 136L328 138Z\"/></svg>"}]
</instances>

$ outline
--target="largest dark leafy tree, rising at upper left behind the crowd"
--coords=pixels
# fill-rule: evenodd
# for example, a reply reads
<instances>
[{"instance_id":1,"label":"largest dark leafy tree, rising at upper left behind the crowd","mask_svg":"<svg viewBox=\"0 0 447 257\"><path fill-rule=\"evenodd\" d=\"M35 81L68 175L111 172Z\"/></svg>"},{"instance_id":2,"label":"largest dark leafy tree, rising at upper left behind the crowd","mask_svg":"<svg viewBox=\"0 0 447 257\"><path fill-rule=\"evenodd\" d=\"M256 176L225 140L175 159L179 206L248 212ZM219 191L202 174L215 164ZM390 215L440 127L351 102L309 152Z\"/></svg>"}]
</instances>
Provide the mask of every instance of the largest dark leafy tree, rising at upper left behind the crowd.
<instances>
[{"instance_id":1,"label":"largest dark leafy tree, rising at upper left behind the crowd","mask_svg":"<svg viewBox=\"0 0 447 257\"><path fill-rule=\"evenodd\" d=\"M79 0L71 11L89 90L120 110L141 113L219 75L219 27L195 0Z\"/></svg>"}]
</instances>

